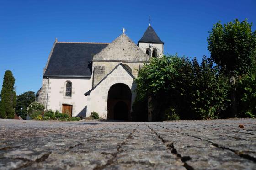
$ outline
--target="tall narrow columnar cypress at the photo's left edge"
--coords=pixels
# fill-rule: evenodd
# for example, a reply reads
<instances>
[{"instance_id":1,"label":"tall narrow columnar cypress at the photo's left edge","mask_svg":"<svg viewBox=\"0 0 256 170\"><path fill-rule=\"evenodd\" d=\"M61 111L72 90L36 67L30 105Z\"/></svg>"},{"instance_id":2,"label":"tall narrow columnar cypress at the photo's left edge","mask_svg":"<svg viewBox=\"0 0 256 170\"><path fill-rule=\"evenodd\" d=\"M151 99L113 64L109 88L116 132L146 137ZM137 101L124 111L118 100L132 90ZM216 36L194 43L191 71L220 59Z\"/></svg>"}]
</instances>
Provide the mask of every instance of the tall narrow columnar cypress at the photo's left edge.
<instances>
[{"instance_id":1,"label":"tall narrow columnar cypress at the photo's left edge","mask_svg":"<svg viewBox=\"0 0 256 170\"><path fill-rule=\"evenodd\" d=\"M16 92L14 91L15 79L11 71L5 71L1 90L0 117L13 119L16 105Z\"/></svg>"}]
</instances>

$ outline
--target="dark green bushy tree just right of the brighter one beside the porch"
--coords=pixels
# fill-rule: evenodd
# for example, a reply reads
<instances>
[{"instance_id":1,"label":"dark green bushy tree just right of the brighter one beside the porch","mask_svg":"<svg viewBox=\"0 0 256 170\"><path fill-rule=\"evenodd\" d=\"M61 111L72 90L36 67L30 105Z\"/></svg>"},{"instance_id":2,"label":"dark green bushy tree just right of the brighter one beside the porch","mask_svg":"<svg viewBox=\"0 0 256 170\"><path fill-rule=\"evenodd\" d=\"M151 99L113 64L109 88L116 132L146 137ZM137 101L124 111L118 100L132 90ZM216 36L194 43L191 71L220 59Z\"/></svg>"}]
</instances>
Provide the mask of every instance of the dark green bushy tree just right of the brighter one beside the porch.
<instances>
[{"instance_id":1,"label":"dark green bushy tree just right of the brighter one beside the porch","mask_svg":"<svg viewBox=\"0 0 256 170\"><path fill-rule=\"evenodd\" d=\"M219 69L203 56L201 65L193 60L192 89L190 90L191 110L194 117L212 119L222 117L220 113L229 103L229 85Z\"/></svg>"}]
</instances>

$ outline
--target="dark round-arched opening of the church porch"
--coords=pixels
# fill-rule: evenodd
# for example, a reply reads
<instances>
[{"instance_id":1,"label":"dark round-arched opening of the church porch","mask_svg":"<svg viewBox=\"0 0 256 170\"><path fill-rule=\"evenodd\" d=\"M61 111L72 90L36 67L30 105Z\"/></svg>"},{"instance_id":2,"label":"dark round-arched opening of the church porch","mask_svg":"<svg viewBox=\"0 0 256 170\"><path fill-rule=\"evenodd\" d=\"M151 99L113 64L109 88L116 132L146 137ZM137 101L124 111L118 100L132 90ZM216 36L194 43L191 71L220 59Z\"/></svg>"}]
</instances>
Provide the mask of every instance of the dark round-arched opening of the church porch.
<instances>
[{"instance_id":1,"label":"dark round-arched opening of the church porch","mask_svg":"<svg viewBox=\"0 0 256 170\"><path fill-rule=\"evenodd\" d=\"M132 91L123 83L110 87L107 95L107 119L130 120Z\"/></svg>"}]
</instances>

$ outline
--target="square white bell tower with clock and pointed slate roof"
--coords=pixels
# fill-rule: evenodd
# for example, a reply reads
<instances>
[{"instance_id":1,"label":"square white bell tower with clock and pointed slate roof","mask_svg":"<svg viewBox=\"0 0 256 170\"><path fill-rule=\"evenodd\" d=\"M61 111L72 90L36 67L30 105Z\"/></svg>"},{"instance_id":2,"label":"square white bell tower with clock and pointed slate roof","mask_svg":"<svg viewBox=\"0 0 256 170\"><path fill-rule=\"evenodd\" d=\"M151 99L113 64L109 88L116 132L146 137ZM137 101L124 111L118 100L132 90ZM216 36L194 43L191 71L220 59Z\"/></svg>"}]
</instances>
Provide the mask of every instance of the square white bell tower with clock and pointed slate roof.
<instances>
[{"instance_id":1,"label":"square white bell tower with clock and pointed slate roof","mask_svg":"<svg viewBox=\"0 0 256 170\"><path fill-rule=\"evenodd\" d=\"M164 42L160 40L150 23L142 38L138 41L138 46L144 53L148 54L149 57L163 56Z\"/></svg>"}]
</instances>

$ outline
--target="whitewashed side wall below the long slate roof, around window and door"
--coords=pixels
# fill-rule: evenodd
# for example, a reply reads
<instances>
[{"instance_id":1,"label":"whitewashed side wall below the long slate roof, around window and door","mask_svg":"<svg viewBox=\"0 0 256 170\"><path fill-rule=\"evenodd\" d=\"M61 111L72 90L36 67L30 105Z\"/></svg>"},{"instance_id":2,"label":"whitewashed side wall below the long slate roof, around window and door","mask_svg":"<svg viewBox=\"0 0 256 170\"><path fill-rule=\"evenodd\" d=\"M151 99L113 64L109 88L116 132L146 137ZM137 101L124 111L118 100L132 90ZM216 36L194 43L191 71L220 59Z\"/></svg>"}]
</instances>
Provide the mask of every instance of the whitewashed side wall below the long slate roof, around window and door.
<instances>
[{"instance_id":1,"label":"whitewashed side wall below the long slate roof, around window and door","mask_svg":"<svg viewBox=\"0 0 256 170\"><path fill-rule=\"evenodd\" d=\"M67 81L72 83L71 97L65 96L65 85ZM73 107L73 117L77 116L78 114L85 114L87 97L84 95L84 93L91 88L92 80L90 78L49 78L48 100L46 109L57 109L59 110L59 112L62 112L62 105L68 104L72 105Z\"/></svg>"}]
</instances>

